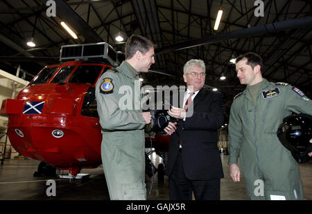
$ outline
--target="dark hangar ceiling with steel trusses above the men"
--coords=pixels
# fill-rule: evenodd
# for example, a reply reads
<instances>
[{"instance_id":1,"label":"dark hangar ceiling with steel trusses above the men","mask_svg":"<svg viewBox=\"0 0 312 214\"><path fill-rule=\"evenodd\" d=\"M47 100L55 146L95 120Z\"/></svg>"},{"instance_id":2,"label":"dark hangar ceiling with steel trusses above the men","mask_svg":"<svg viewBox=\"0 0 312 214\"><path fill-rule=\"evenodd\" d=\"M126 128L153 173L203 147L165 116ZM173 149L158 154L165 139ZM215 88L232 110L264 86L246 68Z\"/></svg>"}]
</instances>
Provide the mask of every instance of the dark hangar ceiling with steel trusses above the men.
<instances>
[{"instance_id":1,"label":"dark hangar ceiling with steel trusses above the men","mask_svg":"<svg viewBox=\"0 0 312 214\"><path fill-rule=\"evenodd\" d=\"M258 2L259 0L257 0ZM51 2L48 1L48 3ZM312 1L263 0L263 17L256 17L254 0L55 0L56 16L48 17L46 0L0 1L0 68L31 80L43 66L58 62L65 44L106 41L116 50L125 43L114 37L144 35L156 44L156 63L144 74L144 84L180 85L189 59L203 59L206 84L225 95L228 113L239 84L229 59L245 52L263 57L263 77L300 88L311 97ZM223 17L218 30L218 9ZM259 11L259 10L258 10ZM60 26L65 21L78 35ZM33 37L35 48L26 46ZM159 72L165 73L162 75ZM220 81L220 75L227 77Z\"/></svg>"}]
</instances>

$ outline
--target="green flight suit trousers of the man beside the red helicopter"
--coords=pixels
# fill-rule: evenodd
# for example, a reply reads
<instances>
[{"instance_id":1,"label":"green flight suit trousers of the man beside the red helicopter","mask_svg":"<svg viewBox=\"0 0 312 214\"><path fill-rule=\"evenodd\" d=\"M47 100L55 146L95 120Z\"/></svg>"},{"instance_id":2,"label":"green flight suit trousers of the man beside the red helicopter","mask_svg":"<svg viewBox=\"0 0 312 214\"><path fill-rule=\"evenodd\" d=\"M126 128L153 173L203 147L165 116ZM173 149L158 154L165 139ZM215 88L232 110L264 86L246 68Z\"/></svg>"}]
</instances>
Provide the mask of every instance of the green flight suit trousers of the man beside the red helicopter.
<instances>
[{"instance_id":1,"label":"green flight suit trousers of the man beside the red helicopter","mask_svg":"<svg viewBox=\"0 0 312 214\"><path fill-rule=\"evenodd\" d=\"M131 155L116 141L101 144L101 156L111 200L146 200L144 149Z\"/></svg>"}]
</instances>

